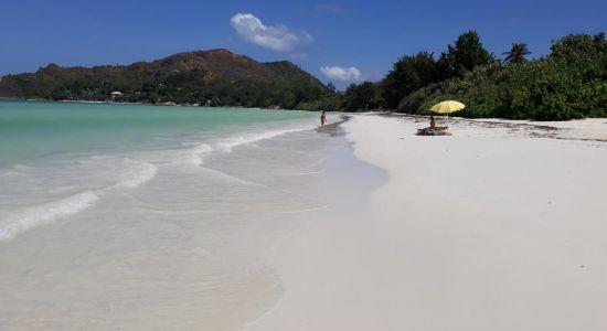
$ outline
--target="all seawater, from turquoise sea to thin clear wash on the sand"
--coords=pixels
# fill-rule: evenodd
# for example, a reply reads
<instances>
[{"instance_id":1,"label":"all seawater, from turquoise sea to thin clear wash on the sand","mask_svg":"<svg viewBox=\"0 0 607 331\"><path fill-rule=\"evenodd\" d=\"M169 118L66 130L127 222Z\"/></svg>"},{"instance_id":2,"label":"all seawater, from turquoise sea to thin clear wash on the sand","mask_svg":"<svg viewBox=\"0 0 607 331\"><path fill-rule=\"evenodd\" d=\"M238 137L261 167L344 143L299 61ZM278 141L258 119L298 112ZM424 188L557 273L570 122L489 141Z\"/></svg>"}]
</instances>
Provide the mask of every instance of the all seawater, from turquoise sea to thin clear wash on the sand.
<instances>
[{"instance_id":1,"label":"all seawater, from turquoise sea to thin clear wash on the sand","mask_svg":"<svg viewBox=\"0 0 607 331\"><path fill-rule=\"evenodd\" d=\"M126 116L114 105L84 107ZM333 193L319 190L327 159L352 158L349 142L315 130L310 113L116 107L155 111L166 127L127 135L138 125L129 119L97 128L104 143L64 146L72 134L61 131L49 153L8 149L0 329L231 330L276 305L284 289L267 256L277 238L329 206ZM132 113L145 117L142 109ZM85 131L73 135L86 140Z\"/></svg>"}]
</instances>

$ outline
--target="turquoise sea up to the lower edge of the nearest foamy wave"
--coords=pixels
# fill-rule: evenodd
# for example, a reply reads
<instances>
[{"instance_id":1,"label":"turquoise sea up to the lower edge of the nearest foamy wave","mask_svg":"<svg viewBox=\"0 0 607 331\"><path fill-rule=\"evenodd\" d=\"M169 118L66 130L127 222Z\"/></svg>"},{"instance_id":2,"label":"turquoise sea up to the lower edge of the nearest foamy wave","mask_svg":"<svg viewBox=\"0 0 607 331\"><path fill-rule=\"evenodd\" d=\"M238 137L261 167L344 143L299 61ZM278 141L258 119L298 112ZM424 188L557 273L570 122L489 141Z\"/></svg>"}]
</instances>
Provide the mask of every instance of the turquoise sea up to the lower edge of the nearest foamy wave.
<instances>
[{"instance_id":1,"label":"turquoise sea up to the lower edge of the nearest foamy wave","mask_svg":"<svg viewBox=\"0 0 607 331\"><path fill-rule=\"evenodd\" d=\"M315 117L303 111L1 102L0 241L136 189L155 179L159 168L180 173L213 153L309 129Z\"/></svg>"}]
</instances>

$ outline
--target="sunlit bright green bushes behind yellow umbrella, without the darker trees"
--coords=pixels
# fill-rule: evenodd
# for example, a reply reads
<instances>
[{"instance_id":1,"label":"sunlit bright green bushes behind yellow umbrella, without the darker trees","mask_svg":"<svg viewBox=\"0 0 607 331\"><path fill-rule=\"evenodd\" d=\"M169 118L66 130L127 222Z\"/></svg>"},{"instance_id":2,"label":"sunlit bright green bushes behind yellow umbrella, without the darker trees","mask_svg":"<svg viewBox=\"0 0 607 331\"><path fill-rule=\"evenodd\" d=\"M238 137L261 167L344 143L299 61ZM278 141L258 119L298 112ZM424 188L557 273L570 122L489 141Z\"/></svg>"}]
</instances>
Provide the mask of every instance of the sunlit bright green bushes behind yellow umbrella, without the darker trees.
<instances>
[{"instance_id":1,"label":"sunlit bright green bushes behind yellow umbrella, without the darker trees","mask_svg":"<svg viewBox=\"0 0 607 331\"><path fill-rule=\"evenodd\" d=\"M406 95L398 110L427 114L445 99L467 105L465 117L566 120L607 117L607 42L604 34L567 35L544 60L490 63L460 77Z\"/></svg>"}]
</instances>

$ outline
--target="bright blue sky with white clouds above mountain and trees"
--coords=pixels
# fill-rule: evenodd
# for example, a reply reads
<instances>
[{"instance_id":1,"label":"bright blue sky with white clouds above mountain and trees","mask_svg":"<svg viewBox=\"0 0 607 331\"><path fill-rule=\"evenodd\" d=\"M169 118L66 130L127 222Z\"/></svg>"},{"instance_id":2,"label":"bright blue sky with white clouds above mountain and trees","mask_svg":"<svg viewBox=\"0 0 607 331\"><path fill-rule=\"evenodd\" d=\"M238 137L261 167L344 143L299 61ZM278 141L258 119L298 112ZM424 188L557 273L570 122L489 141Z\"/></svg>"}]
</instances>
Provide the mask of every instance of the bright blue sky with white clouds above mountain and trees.
<instances>
[{"instance_id":1,"label":"bright blue sky with white clouds above mountain and trees","mask_svg":"<svg viewBox=\"0 0 607 331\"><path fill-rule=\"evenodd\" d=\"M469 29L496 54L525 42L540 56L567 33L607 31L606 12L604 0L3 1L0 75L225 47L343 87L381 78L404 54L438 54Z\"/></svg>"}]
</instances>

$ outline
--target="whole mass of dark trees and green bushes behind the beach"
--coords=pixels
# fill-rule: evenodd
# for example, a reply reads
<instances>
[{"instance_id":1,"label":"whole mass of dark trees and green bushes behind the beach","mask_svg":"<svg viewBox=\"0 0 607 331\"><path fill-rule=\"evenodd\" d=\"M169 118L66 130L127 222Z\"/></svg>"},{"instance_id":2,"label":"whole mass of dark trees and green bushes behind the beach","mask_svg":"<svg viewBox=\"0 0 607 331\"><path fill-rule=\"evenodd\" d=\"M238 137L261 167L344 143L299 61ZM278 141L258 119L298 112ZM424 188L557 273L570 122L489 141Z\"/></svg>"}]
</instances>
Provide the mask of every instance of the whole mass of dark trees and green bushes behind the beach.
<instances>
[{"instance_id":1,"label":"whole mass of dark trees and green bushes behind the beach","mask_svg":"<svg viewBox=\"0 0 607 331\"><path fill-rule=\"evenodd\" d=\"M499 62L484 50L478 33L468 31L436 60L429 52L401 56L379 84L351 85L336 94L339 102L333 105L348 111L387 108L429 114L432 105L457 99L467 105L458 113L465 117L607 117L605 34L565 35L551 50L543 58L528 60L526 44L513 43Z\"/></svg>"}]
</instances>

